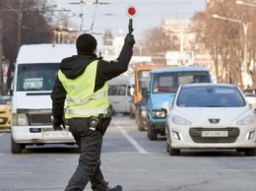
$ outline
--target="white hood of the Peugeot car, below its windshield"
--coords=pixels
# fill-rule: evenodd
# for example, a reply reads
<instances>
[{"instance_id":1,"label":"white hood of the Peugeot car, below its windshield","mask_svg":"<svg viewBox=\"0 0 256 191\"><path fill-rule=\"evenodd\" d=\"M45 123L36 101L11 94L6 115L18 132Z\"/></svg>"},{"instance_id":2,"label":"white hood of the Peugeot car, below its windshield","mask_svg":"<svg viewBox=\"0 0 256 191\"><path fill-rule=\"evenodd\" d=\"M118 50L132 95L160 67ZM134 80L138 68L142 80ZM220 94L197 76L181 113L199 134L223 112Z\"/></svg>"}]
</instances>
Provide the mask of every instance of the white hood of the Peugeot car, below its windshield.
<instances>
[{"instance_id":1,"label":"white hood of the Peugeot car, below its windshield","mask_svg":"<svg viewBox=\"0 0 256 191\"><path fill-rule=\"evenodd\" d=\"M193 126L208 126L209 119L220 119L222 124L234 124L253 111L248 105L243 107L175 107L171 115L177 115L192 122ZM254 115L255 116L255 115ZM200 124L199 124L200 123Z\"/></svg>"}]
</instances>

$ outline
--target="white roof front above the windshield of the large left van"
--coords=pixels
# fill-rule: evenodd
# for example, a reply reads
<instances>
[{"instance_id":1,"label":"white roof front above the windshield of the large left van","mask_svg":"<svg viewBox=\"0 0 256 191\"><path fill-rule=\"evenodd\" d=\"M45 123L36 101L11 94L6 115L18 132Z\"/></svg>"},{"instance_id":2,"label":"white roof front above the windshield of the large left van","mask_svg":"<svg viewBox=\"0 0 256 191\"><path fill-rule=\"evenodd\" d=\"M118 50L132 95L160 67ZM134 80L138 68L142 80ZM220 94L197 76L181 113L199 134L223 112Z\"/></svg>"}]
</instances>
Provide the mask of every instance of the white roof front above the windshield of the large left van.
<instances>
[{"instance_id":1,"label":"white roof front above the windshield of the large left van","mask_svg":"<svg viewBox=\"0 0 256 191\"><path fill-rule=\"evenodd\" d=\"M63 58L76 54L76 44L26 44L21 46L16 62L60 63Z\"/></svg>"}]
</instances>

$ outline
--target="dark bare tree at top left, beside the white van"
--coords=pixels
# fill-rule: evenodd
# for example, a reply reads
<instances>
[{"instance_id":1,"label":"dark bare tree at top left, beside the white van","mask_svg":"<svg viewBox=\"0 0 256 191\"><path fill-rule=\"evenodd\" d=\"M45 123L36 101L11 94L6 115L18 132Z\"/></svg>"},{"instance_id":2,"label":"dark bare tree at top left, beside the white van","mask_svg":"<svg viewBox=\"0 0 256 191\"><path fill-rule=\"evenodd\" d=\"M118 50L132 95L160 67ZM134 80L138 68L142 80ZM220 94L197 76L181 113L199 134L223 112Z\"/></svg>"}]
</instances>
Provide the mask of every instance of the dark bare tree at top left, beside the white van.
<instances>
[{"instance_id":1,"label":"dark bare tree at top left, beside the white van","mask_svg":"<svg viewBox=\"0 0 256 191\"><path fill-rule=\"evenodd\" d=\"M22 44L50 42L52 30L42 10L46 1L1 0L3 14L3 52L10 60L7 84L10 88L14 63Z\"/></svg>"}]
</instances>

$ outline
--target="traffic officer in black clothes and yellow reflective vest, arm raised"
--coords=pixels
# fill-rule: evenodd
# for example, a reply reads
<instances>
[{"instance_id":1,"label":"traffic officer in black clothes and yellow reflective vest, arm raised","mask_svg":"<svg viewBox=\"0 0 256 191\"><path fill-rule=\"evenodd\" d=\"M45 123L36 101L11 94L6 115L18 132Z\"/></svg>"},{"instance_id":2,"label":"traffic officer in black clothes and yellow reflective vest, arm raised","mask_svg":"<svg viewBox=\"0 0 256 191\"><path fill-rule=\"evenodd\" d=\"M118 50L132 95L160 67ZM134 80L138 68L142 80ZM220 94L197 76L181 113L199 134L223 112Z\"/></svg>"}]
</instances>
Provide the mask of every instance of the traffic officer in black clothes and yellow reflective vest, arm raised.
<instances>
[{"instance_id":1,"label":"traffic officer in black clothes and yellow reflective vest, arm raised","mask_svg":"<svg viewBox=\"0 0 256 191\"><path fill-rule=\"evenodd\" d=\"M122 191L120 185L111 188L100 170L102 136L110 122L104 124L100 117L107 115L109 105L107 81L127 71L134 43L133 34L127 33L118 58L107 62L96 57L96 38L84 33L77 38L78 55L61 61L51 93L53 128L65 128L66 118L80 148L79 164L65 191L82 191L89 181L94 191Z\"/></svg>"}]
</instances>

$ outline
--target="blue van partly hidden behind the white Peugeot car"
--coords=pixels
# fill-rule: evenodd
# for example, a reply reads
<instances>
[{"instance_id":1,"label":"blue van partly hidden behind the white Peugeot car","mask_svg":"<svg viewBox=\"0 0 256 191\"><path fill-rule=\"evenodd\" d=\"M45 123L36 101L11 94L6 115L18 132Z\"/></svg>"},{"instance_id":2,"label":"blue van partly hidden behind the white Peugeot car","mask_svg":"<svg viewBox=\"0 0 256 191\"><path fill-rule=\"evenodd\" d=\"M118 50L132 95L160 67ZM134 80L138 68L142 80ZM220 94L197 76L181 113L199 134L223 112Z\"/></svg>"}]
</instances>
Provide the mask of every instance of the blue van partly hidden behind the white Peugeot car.
<instances>
[{"instance_id":1,"label":"blue van partly hidden behind the white Peugeot car","mask_svg":"<svg viewBox=\"0 0 256 191\"><path fill-rule=\"evenodd\" d=\"M197 82L195 82L197 79ZM211 83L211 75L204 67L167 67L154 69L150 73L149 87L144 92L147 100L147 129L150 140L157 140L158 134L165 134L165 112L163 101L171 102L180 85L190 83Z\"/></svg>"}]
</instances>

